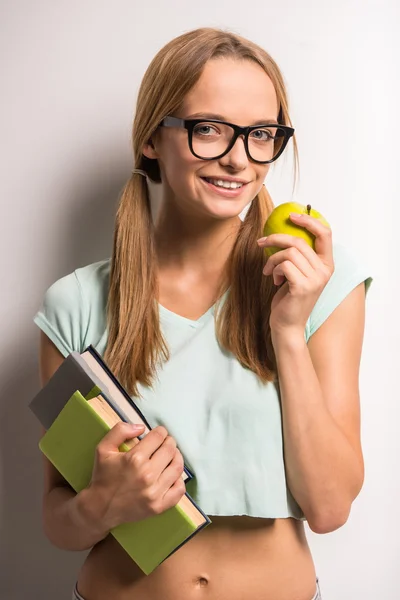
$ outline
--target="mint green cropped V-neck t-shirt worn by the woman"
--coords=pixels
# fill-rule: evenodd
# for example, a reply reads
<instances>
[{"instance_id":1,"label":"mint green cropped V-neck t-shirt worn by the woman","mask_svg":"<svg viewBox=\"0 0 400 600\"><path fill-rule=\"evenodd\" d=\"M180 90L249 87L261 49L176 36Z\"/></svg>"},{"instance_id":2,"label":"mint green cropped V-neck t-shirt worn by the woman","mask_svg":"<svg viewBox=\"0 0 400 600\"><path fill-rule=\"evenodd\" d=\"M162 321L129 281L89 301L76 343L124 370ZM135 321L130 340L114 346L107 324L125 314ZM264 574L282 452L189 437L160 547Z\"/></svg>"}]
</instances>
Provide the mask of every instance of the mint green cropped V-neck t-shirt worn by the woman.
<instances>
[{"instance_id":1,"label":"mint green cropped V-neck t-shirt worn by the woman","mask_svg":"<svg viewBox=\"0 0 400 600\"><path fill-rule=\"evenodd\" d=\"M341 244L335 271L308 319L308 341L342 300L372 277ZM110 259L76 269L47 290L35 323L67 356L92 344L103 355ZM304 513L285 477L281 398L216 339L214 307L193 321L159 305L171 358L152 388L134 397L152 427L164 425L195 478L187 491L208 515L294 517Z\"/></svg>"}]
</instances>

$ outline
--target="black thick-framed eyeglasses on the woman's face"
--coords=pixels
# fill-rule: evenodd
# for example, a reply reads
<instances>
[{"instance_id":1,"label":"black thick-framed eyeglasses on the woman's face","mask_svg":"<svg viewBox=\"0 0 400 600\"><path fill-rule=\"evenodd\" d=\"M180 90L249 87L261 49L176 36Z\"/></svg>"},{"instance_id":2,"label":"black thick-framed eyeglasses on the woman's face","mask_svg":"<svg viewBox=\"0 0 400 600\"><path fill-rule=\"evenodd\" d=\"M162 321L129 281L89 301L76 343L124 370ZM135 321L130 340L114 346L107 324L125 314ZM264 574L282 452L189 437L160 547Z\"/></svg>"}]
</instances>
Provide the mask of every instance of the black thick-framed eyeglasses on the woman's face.
<instances>
[{"instance_id":1,"label":"black thick-framed eyeglasses on the woman's face","mask_svg":"<svg viewBox=\"0 0 400 600\"><path fill-rule=\"evenodd\" d=\"M243 135L248 158L261 164L279 158L295 131L293 127L275 123L240 127L217 119L180 119L170 115L160 125L187 129L190 151L202 160L222 158Z\"/></svg>"}]
</instances>

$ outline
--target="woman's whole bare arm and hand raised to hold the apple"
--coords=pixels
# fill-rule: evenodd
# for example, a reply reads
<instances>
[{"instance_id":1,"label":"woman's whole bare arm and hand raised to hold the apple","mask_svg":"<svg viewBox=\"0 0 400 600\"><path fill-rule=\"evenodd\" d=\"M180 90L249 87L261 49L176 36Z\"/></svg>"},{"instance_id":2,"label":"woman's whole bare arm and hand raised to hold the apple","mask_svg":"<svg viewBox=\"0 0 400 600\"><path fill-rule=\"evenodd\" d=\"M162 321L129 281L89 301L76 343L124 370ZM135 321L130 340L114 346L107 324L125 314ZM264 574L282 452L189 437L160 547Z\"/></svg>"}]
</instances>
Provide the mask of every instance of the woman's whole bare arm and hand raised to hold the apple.
<instances>
[{"instance_id":1,"label":"woman's whole bare arm and hand raised to hold the apple","mask_svg":"<svg viewBox=\"0 0 400 600\"><path fill-rule=\"evenodd\" d=\"M288 487L316 533L338 529L361 490L359 366L365 285L358 285L306 343L308 317L335 270L332 231L311 215L290 215L315 236L272 234L260 246L280 248L264 275L280 286L269 324L281 393Z\"/></svg>"}]
</instances>

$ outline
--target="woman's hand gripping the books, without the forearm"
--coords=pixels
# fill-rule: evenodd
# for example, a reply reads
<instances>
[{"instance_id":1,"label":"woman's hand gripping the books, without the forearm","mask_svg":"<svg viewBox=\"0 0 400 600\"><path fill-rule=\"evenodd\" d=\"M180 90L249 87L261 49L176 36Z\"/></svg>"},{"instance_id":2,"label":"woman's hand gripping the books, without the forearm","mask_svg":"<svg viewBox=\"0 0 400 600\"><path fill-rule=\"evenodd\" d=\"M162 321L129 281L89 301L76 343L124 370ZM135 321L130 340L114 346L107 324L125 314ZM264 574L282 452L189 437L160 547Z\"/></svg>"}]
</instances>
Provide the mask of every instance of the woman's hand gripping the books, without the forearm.
<instances>
[{"instance_id":1,"label":"woman's hand gripping the books, without the forearm","mask_svg":"<svg viewBox=\"0 0 400 600\"><path fill-rule=\"evenodd\" d=\"M96 447L85 491L96 499L95 518L107 530L161 514L185 495L184 462L174 438L158 426L137 440L143 431L143 425L117 423ZM126 440L132 447L120 452Z\"/></svg>"}]
</instances>

